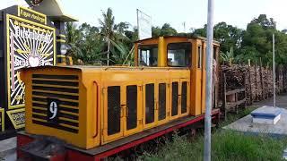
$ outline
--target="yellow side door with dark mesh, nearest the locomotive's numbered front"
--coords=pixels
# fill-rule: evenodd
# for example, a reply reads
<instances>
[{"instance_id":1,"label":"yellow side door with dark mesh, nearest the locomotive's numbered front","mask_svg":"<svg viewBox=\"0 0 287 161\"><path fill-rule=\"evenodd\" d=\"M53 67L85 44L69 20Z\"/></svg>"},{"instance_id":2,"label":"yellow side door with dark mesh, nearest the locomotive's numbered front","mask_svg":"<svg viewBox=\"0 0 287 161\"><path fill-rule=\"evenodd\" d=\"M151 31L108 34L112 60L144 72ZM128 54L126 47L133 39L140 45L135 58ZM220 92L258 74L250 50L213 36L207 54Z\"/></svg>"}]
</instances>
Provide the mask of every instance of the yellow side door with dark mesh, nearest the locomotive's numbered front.
<instances>
[{"instance_id":1,"label":"yellow side door with dark mesh, nearest the locomotive's numbered front","mask_svg":"<svg viewBox=\"0 0 287 161\"><path fill-rule=\"evenodd\" d=\"M105 84L103 89L103 142L107 143L124 136L125 97L123 86Z\"/></svg>"}]
</instances>

